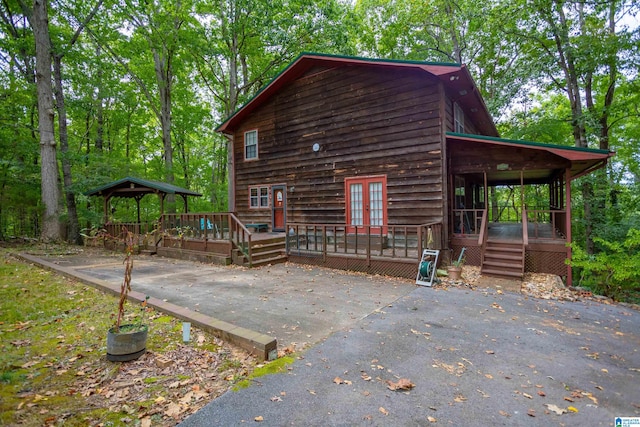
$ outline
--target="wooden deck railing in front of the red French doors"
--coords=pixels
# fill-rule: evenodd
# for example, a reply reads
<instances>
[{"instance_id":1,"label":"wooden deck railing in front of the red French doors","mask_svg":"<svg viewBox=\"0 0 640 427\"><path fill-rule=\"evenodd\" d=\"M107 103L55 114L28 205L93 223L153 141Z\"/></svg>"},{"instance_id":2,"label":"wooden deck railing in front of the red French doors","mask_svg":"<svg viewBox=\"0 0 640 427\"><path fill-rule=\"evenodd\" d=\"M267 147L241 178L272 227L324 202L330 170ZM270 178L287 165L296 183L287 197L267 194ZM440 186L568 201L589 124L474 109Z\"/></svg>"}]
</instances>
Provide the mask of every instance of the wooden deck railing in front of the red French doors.
<instances>
[{"instance_id":1,"label":"wooden deck railing in front of the red French doors","mask_svg":"<svg viewBox=\"0 0 640 427\"><path fill-rule=\"evenodd\" d=\"M415 259L422 249L443 248L442 224L344 225L288 223L287 254L357 255Z\"/></svg>"}]
</instances>

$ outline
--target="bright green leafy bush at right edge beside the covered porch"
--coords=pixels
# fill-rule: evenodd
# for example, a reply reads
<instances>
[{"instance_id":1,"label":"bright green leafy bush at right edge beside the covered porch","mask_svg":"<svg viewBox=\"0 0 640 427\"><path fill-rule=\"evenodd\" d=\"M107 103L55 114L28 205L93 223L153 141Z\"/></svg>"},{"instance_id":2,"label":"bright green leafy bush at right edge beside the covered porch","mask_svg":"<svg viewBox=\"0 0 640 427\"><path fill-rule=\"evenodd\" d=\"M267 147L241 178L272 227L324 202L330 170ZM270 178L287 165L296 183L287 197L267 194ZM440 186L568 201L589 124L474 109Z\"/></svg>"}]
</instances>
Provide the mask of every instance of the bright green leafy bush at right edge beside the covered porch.
<instances>
[{"instance_id":1,"label":"bright green leafy bush at right edge beside the covered porch","mask_svg":"<svg viewBox=\"0 0 640 427\"><path fill-rule=\"evenodd\" d=\"M579 284L618 301L640 301L640 229L632 228L622 242L594 239L602 250L589 255L573 247L571 266Z\"/></svg>"}]
</instances>

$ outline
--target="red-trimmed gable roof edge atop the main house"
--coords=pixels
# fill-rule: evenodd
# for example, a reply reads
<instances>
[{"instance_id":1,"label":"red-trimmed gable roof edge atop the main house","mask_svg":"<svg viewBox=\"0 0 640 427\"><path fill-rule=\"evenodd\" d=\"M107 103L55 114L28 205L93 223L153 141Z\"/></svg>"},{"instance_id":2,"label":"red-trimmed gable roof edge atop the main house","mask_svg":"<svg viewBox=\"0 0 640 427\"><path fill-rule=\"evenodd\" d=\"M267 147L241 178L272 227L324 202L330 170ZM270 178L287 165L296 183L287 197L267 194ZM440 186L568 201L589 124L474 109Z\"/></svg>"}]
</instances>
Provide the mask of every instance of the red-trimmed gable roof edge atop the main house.
<instances>
[{"instance_id":1,"label":"red-trimmed gable roof edge atop the main house","mask_svg":"<svg viewBox=\"0 0 640 427\"><path fill-rule=\"evenodd\" d=\"M423 61L400 61L389 59L370 59L360 57L337 56L316 53L303 53L294 59L271 82L265 85L253 98L218 126L216 131L227 134L254 110L263 105L287 84L297 80L315 67L336 68L342 66L367 66L378 69L421 70L438 78L454 101L460 103L465 114L470 117L477 129L485 135L498 136L493 119L476 87L468 69L455 63L434 63Z\"/></svg>"}]
</instances>

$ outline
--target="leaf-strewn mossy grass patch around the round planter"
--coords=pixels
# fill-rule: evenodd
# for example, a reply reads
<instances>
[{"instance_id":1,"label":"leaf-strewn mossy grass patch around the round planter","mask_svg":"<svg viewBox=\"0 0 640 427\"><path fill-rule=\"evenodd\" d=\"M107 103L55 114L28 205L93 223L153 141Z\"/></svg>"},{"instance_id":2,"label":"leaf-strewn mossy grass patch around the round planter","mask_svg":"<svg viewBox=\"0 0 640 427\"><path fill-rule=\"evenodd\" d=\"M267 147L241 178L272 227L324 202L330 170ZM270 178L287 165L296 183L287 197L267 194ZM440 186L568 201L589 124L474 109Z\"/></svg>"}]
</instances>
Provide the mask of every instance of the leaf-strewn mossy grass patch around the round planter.
<instances>
[{"instance_id":1,"label":"leaf-strewn mossy grass patch around the round planter","mask_svg":"<svg viewBox=\"0 0 640 427\"><path fill-rule=\"evenodd\" d=\"M226 379L198 385L204 375L178 368L192 361L200 369L224 364L233 378L253 369L253 358L204 331L198 331L206 337L202 344L185 345L182 321L130 302L125 320L144 316L148 353L135 362L109 362L106 334L115 321L115 296L21 262L6 249L0 259L0 425L121 426L146 418L171 426L233 385ZM173 363L157 367L160 356ZM184 405L178 415L165 414L196 386L215 393Z\"/></svg>"}]
</instances>

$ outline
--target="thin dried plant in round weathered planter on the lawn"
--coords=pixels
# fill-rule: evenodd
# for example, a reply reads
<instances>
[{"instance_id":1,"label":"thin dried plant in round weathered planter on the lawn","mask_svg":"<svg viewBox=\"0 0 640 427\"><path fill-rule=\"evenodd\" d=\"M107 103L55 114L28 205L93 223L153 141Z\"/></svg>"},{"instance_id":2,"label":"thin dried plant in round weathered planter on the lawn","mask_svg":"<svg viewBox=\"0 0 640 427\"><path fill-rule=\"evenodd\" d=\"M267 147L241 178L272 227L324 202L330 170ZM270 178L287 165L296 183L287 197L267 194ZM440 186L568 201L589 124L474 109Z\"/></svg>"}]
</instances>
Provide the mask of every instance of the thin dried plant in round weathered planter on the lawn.
<instances>
[{"instance_id":1,"label":"thin dried plant in round weathered planter on the lawn","mask_svg":"<svg viewBox=\"0 0 640 427\"><path fill-rule=\"evenodd\" d=\"M136 323L122 324L124 319L124 306L131 291L131 271L133 270L133 254L135 246L133 234L122 227L124 242L124 278L120 285L120 298L118 301L118 316L115 325L107 333L107 360L114 362L126 362L142 356L147 350L148 326L142 322L142 318ZM148 297L147 297L148 299ZM142 309L146 311L147 301L142 302Z\"/></svg>"}]
</instances>

